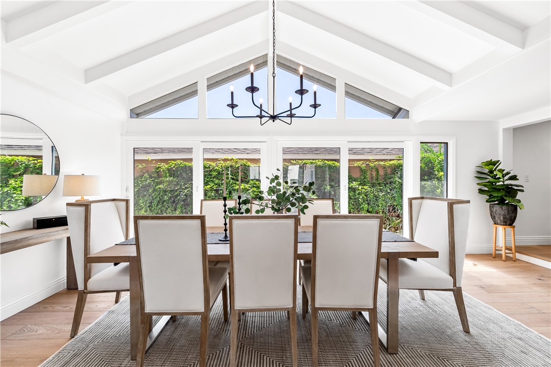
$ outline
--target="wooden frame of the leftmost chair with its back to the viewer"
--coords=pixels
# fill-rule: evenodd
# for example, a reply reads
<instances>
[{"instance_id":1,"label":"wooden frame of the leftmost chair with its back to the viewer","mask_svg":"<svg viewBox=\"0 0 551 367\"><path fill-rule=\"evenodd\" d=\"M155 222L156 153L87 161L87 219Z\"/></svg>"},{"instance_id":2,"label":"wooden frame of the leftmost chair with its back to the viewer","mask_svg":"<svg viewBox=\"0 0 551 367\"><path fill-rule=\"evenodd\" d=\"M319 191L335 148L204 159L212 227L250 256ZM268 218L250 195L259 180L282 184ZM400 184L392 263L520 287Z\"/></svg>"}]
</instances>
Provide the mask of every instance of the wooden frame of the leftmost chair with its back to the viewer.
<instances>
[{"instance_id":1,"label":"wooden frame of the leftmost chair with its back to the viewer","mask_svg":"<svg viewBox=\"0 0 551 367\"><path fill-rule=\"evenodd\" d=\"M147 312L145 311L145 299L143 289L143 270L141 247L139 242L138 221L141 220L200 220L201 221L201 257L203 262L203 311L180 311L180 312ZM177 315L199 315L201 316L201 340L199 347L199 366L207 365L207 344L208 344L208 324L210 309L214 302L222 293L222 302L224 308L224 321L228 321L228 282L224 284L220 292L217 293L213 300L210 300L209 293L209 277L208 277L208 258L207 258L207 229L205 226L204 215L137 215L134 216L134 234L136 235L136 256L138 265L138 278L141 299L141 322L140 334L138 339L138 353L136 357L136 366L143 366L145 352L147 349L147 338L152 325L152 316L154 315L171 315L172 321L176 320Z\"/></svg>"}]
</instances>

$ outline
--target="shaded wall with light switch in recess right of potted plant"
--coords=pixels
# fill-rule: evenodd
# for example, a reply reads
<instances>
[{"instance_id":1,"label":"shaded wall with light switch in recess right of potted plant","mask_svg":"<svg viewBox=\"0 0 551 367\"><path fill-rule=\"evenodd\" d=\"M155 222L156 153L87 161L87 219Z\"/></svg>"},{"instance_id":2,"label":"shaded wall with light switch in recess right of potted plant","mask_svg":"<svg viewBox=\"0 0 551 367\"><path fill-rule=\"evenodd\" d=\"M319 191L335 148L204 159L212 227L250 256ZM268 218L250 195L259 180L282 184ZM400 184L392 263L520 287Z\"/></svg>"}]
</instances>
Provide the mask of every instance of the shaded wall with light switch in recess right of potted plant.
<instances>
[{"instance_id":1,"label":"shaded wall with light switch in recess right of potted plant","mask_svg":"<svg viewBox=\"0 0 551 367\"><path fill-rule=\"evenodd\" d=\"M517 245L551 244L551 121L512 129L513 169L525 192L515 222ZM525 182L525 175L530 181Z\"/></svg>"}]
</instances>

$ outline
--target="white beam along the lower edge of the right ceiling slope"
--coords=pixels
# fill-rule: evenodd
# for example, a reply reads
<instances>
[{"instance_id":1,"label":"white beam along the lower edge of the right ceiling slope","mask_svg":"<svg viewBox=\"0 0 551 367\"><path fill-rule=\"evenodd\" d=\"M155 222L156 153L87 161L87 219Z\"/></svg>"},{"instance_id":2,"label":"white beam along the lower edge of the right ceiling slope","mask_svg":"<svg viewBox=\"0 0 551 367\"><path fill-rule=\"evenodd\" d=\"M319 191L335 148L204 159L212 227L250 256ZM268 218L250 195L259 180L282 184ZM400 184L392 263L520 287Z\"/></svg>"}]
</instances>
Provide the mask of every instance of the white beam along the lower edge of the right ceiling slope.
<instances>
[{"instance_id":1,"label":"white beam along the lower edge of the right ceiling slope","mask_svg":"<svg viewBox=\"0 0 551 367\"><path fill-rule=\"evenodd\" d=\"M514 57L466 83L453 87L453 89L442 93L436 98L424 101L422 105L415 105L413 108L415 116L413 122L429 119L446 109L476 98L478 95L492 93L500 87L505 88L507 84L511 83L511 79L509 77L504 78L504 75L511 75L511 69L517 71L514 74L516 79L525 78L534 72L542 72L542 67L545 68L545 66L542 66L541 62L538 64L538 61L546 60L549 64L550 48L549 42L541 42L538 46L516 54ZM533 67L527 68L526 65L533 65ZM535 69L536 65L539 65L539 69Z\"/></svg>"}]
</instances>

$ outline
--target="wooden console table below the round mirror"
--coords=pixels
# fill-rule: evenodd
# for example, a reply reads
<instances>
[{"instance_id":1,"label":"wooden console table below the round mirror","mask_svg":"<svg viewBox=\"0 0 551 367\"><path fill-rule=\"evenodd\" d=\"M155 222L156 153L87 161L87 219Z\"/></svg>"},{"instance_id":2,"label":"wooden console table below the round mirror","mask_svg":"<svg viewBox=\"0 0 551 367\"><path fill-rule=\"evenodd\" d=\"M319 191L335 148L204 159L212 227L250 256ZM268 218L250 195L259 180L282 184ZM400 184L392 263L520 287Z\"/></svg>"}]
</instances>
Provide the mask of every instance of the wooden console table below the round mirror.
<instances>
[{"instance_id":1,"label":"wooden console table below the round mirror","mask_svg":"<svg viewBox=\"0 0 551 367\"><path fill-rule=\"evenodd\" d=\"M78 289L68 226L44 229L25 228L19 231L2 233L0 238L0 254L10 253L60 238L67 238L67 289Z\"/></svg>"}]
</instances>

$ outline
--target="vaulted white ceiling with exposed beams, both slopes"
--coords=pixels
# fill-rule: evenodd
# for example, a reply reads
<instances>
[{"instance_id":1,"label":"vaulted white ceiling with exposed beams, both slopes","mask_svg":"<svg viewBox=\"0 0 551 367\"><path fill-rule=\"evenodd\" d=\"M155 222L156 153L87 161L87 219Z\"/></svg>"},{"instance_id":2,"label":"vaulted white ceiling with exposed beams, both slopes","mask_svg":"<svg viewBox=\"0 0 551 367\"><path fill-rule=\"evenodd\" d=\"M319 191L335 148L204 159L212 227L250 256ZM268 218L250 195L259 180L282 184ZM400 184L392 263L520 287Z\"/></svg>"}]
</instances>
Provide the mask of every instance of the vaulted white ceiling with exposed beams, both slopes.
<instances>
[{"instance_id":1,"label":"vaulted white ceiling with exposed beams, both slopes","mask_svg":"<svg viewBox=\"0 0 551 367\"><path fill-rule=\"evenodd\" d=\"M1 0L0 12L3 70L125 109L271 47L266 0ZM278 53L415 121L500 120L550 104L549 1L278 0L276 20Z\"/></svg>"}]
</instances>

